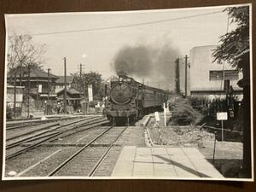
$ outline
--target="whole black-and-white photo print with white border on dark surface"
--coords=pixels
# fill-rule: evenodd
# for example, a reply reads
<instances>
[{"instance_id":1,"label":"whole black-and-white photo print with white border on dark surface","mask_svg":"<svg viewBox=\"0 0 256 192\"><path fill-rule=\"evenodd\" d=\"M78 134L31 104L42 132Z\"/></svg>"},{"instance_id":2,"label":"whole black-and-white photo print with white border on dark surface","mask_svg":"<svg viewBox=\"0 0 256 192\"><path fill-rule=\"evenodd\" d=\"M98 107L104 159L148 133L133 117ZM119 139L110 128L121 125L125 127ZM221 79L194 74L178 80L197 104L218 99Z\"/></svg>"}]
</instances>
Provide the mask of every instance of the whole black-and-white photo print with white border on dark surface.
<instances>
[{"instance_id":1,"label":"whole black-and-white photo print with white border on dark surface","mask_svg":"<svg viewBox=\"0 0 256 192\"><path fill-rule=\"evenodd\" d=\"M254 180L252 4L5 26L3 180Z\"/></svg>"}]
</instances>

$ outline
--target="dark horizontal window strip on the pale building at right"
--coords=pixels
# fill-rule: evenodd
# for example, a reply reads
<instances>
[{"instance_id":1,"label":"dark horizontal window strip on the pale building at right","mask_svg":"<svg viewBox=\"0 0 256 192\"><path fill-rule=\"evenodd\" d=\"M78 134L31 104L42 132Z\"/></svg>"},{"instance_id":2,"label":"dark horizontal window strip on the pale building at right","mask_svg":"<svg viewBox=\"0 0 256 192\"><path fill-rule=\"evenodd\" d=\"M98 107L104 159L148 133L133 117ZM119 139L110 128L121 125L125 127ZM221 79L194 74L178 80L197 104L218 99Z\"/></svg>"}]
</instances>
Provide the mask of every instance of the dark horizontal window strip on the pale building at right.
<instances>
[{"instance_id":1,"label":"dark horizontal window strip on the pale building at right","mask_svg":"<svg viewBox=\"0 0 256 192\"><path fill-rule=\"evenodd\" d=\"M238 71L237 70L216 70L210 71L210 81L214 80L223 80L223 79L230 79L230 80L238 80Z\"/></svg>"}]
</instances>

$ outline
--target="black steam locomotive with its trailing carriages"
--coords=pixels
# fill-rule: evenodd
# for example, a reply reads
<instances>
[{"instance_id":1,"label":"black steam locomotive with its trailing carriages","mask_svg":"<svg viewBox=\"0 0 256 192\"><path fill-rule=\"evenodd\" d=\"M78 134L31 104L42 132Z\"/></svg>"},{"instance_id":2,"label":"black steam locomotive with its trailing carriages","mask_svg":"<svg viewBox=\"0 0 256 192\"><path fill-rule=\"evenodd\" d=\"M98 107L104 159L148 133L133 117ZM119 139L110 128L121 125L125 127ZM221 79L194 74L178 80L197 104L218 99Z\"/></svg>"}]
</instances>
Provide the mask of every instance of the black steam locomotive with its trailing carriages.
<instances>
[{"instance_id":1,"label":"black steam locomotive with its trailing carriages","mask_svg":"<svg viewBox=\"0 0 256 192\"><path fill-rule=\"evenodd\" d=\"M127 125L144 113L161 110L171 96L169 91L149 87L136 80L120 75L110 81L110 94L106 99L104 113L113 124Z\"/></svg>"}]
</instances>

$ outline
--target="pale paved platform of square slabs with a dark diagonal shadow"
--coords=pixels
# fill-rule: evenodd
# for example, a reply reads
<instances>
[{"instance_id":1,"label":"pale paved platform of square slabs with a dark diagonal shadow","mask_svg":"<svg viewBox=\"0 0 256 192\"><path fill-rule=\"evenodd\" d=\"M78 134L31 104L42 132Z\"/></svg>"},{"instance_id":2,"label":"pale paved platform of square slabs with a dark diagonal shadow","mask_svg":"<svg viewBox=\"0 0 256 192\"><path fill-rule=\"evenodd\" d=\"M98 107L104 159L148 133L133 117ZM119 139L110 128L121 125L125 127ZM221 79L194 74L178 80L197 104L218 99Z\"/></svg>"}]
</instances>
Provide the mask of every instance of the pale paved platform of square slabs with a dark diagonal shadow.
<instances>
[{"instance_id":1,"label":"pale paved platform of square slabs with a dark diagonal shadow","mask_svg":"<svg viewBox=\"0 0 256 192\"><path fill-rule=\"evenodd\" d=\"M197 148L125 146L112 177L195 178L223 176Z\"/></svg>"}]
</instances>

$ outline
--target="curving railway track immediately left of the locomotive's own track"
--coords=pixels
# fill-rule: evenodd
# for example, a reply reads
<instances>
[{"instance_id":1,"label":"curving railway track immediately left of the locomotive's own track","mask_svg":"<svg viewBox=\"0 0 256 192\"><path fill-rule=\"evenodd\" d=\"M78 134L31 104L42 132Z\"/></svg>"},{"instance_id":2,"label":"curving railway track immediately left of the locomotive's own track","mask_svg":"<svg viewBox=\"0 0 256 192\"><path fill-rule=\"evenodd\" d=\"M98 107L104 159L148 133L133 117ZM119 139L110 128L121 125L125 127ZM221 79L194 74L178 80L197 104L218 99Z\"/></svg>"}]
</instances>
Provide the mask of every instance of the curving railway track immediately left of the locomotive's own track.
<instances>
[{"instance_id":1,"label":"curving railway track immediately left of the locomotive's own track","mask_svg":"<svg viewBox=\"0 0 256 192\"><path fill-rule=\"evenodd\" d=\"M65 125L56 125L46 131L41 131L31 136L22 137L14 142L9 142L6 149L12 149L12 152L7 153L5 160L10 160L20 154L23 154L33 148L37 148L46 142L53 142L59 138L68 137L79 131L84 131L96 127L97 125L102 125L108 123L108 120L97 117L94 119L79 119L75 122L67 123ZM79 130L78 130L79 129ZM16 139L17 137L13 138ZM12 139L9 139L9 141ZM22 144L30 143L26 148L22 147ZM14 148L18 148L14 150ZM8 152L8 151L7 151Z\"/></svg>"}]
</instances>

